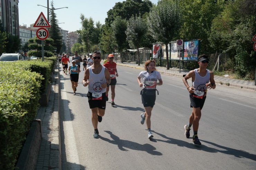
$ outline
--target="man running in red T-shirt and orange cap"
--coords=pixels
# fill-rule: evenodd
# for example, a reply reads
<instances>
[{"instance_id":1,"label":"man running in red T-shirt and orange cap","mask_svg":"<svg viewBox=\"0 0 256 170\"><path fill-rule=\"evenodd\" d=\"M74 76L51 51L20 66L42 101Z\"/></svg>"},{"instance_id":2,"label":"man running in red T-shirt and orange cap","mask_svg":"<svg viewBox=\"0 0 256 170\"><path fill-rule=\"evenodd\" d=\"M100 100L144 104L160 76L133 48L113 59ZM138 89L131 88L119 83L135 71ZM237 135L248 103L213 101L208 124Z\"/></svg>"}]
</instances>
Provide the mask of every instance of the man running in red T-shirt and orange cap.
<instances>
[{"instance_id":1,"label":"man running in red T-shirt and orange cap","mask_svg":"<svg viewBox=\"0 0 256 170\"><path fill-rule=\"evenodd\" d=\"M109 54L108 55L108 61L103 64L103 66L105 66L109 73L110 73L110 78L111 78L111 83L110 83L110 87L111 87L111 106L115 105L114 99L116 96L115 93L115 87L116 87L116 77L118 77L118 73L117 73L117 64L113 61L114 60L114 55L113 54ZM109 91L109 86L107 87L106 90L106 99L108 101L108 91Z\"/></svg>"}]
</instances>

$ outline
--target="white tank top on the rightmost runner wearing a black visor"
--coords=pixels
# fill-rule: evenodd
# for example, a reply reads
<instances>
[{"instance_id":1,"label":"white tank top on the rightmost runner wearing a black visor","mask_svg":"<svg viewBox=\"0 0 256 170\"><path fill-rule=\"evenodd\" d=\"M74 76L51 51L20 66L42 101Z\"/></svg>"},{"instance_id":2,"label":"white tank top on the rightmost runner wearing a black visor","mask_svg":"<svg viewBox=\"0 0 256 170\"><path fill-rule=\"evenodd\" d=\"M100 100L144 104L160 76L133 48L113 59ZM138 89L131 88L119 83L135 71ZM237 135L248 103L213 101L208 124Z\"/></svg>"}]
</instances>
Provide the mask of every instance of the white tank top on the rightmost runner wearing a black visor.
<instances>
[{"instance_id":1,"label":"white tank top on the rightmost runner wearing a black visor","mask_svg":"<svg viewBox=\"0 0 256 170\"><path fill-rule=\"evenodd\" d=\"M206 75L204 77L201 77L197 69L195 69L195 81L192 81L192 86L196 90L205 91L207 87L205 86L206 83L209 83L210 80L210 71L206 69Z\"/></svg>"}]
</instances>

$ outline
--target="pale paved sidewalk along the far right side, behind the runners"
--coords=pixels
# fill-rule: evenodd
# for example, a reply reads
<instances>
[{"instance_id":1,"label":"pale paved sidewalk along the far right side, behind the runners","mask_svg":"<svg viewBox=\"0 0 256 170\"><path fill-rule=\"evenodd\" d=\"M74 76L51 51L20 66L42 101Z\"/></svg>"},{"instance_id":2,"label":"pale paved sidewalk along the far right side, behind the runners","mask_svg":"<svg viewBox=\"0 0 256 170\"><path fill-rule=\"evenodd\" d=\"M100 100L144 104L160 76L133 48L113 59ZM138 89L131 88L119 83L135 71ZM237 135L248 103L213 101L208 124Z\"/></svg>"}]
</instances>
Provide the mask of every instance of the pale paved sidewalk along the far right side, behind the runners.
<instances>
[{"instance_id":1,"label":"pale paved sidewalk along the far right side, behind the runners","mask_svg":"<svg viewBox=\"0 0 256 170\"><path fill-rule=\"evenodd\" d=\"M117 65L144 70L144 64L140 64L140 66L138 66L138 64L136 63L128 63L128 62L121 63L121 61L117 61ZM183 77L183 74L187 74L189 72L182 69L180 71L180 69L176 69L176 68L170 68L170 70L166 70L165 67L156 67L156 69L161 74L167 74L167 75L176 76L176 77ZM214 76L214 80L217 84L223 84L223 86L226 86L226 84L229 83L229 86L231 87L237 87L237 88L256 91L256 86L254 86L255 84L254 81L230 79L224 76Z\"/></svg>"}]
</instances>

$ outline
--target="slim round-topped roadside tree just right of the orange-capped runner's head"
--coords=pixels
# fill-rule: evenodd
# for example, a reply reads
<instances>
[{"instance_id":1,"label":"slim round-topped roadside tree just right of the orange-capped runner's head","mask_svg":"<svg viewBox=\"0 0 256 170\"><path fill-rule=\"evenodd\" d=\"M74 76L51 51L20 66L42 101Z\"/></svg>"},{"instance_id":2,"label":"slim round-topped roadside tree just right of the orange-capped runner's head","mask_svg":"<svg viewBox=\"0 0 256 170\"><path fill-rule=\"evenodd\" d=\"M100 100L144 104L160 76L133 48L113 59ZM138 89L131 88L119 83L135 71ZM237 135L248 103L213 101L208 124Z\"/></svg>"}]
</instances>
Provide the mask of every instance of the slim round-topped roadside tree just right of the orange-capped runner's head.
<instances>
[{"instance_id":1,"label":"slim round-topped roadside tree just right of the orange-capped runner's head","mask_svg":"<svg viewBox=\"0 0 256 170\"><path fill-rule=\"evenodd\" d=\"M121 55L121 62L123 62L122 58L122 50L128 46L126 42L126 33L127 30L127 21L117 17L115 21L111 24L113 35L117 42L117 48Z\"/></svg>"}]
</instances>

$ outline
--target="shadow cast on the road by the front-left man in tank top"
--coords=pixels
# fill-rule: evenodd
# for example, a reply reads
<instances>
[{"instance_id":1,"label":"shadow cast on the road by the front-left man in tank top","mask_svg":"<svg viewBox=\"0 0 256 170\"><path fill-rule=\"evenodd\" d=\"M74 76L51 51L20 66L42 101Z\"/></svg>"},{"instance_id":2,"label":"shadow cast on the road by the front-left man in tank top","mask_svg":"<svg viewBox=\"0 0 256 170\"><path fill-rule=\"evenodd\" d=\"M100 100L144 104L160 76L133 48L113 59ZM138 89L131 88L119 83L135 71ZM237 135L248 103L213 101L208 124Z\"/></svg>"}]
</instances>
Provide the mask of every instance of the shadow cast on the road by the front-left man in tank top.
<instances>
[{"instance_id":1,"label":"shadow cast on the road by the front-left man in tank top","mask_svg":"<svg viewBox=\"0 0 256 170\"><path fill-rule=\"evenodd\" d=\"M129 141L129 140L122 140L110 131L104 131L104 132L107 132L108 134L110 134L110 137L113 140L110 140L108 138L104 138L102 136L100 136L100 139L102 139L106 142L112 143L112 144L116 144L118 146L118 148L122 151L128 151L125 148L129 148L129 149L132 149L132 150L145 151L145 152L147 152L149 154L152 154L152 155L158 155L158 156L163 155L161 152L155 151L156 148L153 147L151 144L148 144L148 143L139 144L139 143L132 142L132 141Z\"/></svg>"}]
</instances>

